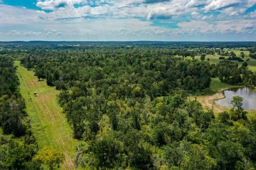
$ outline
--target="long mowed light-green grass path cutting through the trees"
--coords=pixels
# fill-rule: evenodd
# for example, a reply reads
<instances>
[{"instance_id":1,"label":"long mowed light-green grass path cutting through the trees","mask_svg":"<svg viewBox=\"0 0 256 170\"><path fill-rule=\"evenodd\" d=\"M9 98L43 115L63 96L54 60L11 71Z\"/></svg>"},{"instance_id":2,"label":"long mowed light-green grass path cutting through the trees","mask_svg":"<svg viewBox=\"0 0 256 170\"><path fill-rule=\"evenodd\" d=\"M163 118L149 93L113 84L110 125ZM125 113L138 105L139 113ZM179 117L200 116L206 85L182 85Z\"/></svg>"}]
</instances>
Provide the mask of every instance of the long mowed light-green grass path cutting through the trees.
<instances>
[{"instance_id":1,"label":"long mowed light-green grass path cutting through the trees","mask_svg":"<svg viewBox=\"0 0 256 170\"><path fill-rule=\"evenodd\" d=\"M72 157L75 154L72 130L66 117L61 113L57 103L58 90L47 86L46 82L38 81L33 71L28 71L15 61L17 75L20 80L20 92L26 101L26 111L31 119L30 124L39 148L52 146L65 155L61 169L75 169ZM37 96L34 96L34 91Z\"/></svg>"}]
</instances>

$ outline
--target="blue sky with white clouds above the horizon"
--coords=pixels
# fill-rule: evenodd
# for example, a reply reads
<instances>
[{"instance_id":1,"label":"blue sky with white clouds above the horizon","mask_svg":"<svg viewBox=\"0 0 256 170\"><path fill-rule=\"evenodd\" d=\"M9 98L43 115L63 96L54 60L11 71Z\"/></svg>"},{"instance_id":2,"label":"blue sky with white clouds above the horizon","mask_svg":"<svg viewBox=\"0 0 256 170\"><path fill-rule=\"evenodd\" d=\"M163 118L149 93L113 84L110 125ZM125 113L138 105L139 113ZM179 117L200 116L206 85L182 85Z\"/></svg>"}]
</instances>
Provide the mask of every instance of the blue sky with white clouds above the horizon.
<instances>
[{"instance_id":1,"label":"blue sky with white clouds above the horizon","mask_svg":"<svg viewBox=\"0 0 256 170\"><path fill-rule=\"evenodd\" d=\"M256 0L0 0L0 41L255 41Z\"/></svg>"}]
</instances>

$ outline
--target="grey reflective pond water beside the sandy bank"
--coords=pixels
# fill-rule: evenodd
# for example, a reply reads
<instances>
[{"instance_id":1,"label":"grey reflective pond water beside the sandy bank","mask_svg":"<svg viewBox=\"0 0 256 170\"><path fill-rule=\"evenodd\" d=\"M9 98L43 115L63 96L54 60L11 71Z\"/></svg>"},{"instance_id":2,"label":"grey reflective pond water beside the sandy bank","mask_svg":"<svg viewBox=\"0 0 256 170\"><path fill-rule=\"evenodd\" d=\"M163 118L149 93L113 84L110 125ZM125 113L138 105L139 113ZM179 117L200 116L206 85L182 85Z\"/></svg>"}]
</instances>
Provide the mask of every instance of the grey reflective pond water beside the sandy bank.
<instances>
[{"instance_id":1,"label":"grey reflective pond water beside the sandy bank","mask_svg":"<svg viewBox=\"0 0 256 170\"><path fill-rule=\"evenodd\" d=\"M252 88L236 88L224 90L224 95L226 96L223 99L215 101L216 104L226 107L231 107L230 100L233 96L241 96L243 100L243 108L246 110L256 110L256 92Z\"/></svg>"}]
</instances>

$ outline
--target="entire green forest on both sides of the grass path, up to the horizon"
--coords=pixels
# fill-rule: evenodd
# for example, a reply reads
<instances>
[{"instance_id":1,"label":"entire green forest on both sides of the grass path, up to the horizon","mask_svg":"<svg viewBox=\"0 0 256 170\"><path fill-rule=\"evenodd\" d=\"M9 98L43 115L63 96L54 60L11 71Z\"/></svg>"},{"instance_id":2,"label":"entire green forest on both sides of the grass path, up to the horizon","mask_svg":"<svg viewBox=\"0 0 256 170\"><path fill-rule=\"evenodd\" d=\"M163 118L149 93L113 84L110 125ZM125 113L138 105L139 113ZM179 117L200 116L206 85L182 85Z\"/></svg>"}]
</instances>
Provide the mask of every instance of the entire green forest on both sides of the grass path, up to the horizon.
<instances>
[{"instance_id":1,"label":"entire green forest on both sides of the grass path, up to the horizon","mask_svg":"<svg viewBox=\"0 0 256 170\"><path fill-rule=\"evenodd\" d=\"M0 169L58 169L63 161L37 146L14 60L60 90L78 169L256 168L256 120L247 118L243 98L214 114L196 97L212 78L255 87L247 64L253 43L30 43L0 50ZM243 48L238 55L229 46Z\"/></svg>"}]
</instances>

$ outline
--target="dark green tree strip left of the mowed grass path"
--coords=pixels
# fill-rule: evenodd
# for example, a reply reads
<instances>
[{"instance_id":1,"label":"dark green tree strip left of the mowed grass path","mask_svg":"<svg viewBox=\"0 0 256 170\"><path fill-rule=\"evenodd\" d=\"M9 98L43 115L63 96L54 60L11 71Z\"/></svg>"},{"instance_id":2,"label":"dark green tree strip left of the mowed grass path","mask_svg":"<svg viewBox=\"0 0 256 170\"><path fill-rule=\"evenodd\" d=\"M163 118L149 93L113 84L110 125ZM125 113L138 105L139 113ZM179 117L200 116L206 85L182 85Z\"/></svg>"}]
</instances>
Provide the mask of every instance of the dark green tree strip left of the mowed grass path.
<instances>
[{"instance_id":1,"label":"dark green tree strip left of the mowed grass path","mask_svg":"<svg viewBox=\"0 0 256 170\"><path fill-rule=\"evenodd\" d=\"M37 144L10 57L0 57L0 169L39 169Z\"/></svg>"}]
</instances>

